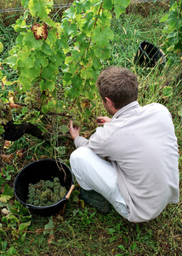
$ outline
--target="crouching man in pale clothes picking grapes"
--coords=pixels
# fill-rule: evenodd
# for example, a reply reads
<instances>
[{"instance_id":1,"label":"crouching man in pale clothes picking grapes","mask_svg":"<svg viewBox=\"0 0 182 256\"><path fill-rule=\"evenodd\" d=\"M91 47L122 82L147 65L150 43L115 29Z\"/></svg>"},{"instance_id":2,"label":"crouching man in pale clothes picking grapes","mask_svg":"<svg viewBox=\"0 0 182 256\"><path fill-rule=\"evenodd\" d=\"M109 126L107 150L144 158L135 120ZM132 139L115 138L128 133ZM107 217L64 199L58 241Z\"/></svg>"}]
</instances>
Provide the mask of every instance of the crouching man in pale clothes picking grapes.
<instances>
[{"instance_id":1,"label":"crouching man in pale clothes picking grapes","mask_svg":"<svg viewBox=\"0 0 182 256\"><path fill-rule=\"evenodd\" d=\"M99 117L100 127L89 139L79 136L72 121L69 127L77 147L70 162L80 197L100 212L109 211L109 201L128 221L149 221L179 201L171 114L158 103L139 105L137 78L127 68L105 68L97 87L112 118Z\"/></svg>"}]
</instances>

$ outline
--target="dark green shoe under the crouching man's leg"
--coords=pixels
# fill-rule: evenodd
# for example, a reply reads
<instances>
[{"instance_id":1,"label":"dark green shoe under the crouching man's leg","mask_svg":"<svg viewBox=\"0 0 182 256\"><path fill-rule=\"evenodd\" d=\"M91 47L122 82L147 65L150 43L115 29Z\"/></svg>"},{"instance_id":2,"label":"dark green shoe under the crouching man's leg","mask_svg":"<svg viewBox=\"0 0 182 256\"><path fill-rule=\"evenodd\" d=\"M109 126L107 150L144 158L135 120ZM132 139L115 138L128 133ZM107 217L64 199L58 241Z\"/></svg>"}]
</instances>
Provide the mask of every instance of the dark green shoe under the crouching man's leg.
<instances>
[{"instance_id":1,"label":"dark green shoe under the crouching man's leg","mask_svg":"<svg viewBox=\"0 0 182 256\"><path fill-rule=\"evenodd\" d=\"M80 199L85 201L89 206L96 208L101 213L109 212L110 207L103 195L94 190L85 190L80 188Z\"/></svg>"}]
</instances>

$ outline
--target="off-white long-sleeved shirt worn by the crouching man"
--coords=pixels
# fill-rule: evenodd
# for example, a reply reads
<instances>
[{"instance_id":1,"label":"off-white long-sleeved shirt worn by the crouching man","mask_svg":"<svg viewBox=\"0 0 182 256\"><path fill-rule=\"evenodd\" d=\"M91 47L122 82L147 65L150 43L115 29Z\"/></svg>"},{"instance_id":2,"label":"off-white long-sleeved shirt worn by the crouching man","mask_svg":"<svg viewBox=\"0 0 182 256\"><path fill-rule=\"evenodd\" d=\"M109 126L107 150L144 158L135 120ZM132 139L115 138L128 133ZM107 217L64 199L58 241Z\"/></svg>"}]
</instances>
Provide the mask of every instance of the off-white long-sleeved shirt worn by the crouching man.
<instances>
[{"instance_id":1,"label":"off-white long-sleeved shirt worn by the crouching man","mask_svg":"<svg viewBox=\"0 0 182 256\"><path fill-rule=\"evenodd\" d=\"M128 207L128 220L156 218L168 203L179 201L179 151L168 109L131 102L76 147L91 148L111 160Z\"/></svg>"}]
</instances>

